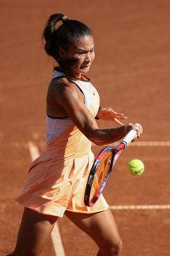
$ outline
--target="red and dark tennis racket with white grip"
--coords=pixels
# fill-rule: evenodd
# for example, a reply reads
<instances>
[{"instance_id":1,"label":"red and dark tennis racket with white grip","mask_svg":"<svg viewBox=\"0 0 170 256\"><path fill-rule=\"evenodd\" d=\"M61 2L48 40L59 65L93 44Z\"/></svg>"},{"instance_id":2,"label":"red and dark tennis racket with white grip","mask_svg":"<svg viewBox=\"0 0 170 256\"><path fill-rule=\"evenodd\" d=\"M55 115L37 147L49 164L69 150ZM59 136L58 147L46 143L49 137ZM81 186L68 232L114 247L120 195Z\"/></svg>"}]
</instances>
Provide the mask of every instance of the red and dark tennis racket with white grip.
<instances>
[{"instance_id":1,"label":"red and dark tennis racket with white grip","mask_svg":"<svg viewBox=\"0 0 170 256\"><path fill-rule=\"evenodd\" d=\"M134 139L136 131L131 130L123 138L120 144L113 147L104 147L101 152L97 155L94 164L89 173L87 180L87 186L85 189L84 203L87 206L92 206L96 203L97 199L101 195L106 182L110 176L113 166L117 162L118 157L122 151L129 145Z\"/></svg>"}]
</instances>

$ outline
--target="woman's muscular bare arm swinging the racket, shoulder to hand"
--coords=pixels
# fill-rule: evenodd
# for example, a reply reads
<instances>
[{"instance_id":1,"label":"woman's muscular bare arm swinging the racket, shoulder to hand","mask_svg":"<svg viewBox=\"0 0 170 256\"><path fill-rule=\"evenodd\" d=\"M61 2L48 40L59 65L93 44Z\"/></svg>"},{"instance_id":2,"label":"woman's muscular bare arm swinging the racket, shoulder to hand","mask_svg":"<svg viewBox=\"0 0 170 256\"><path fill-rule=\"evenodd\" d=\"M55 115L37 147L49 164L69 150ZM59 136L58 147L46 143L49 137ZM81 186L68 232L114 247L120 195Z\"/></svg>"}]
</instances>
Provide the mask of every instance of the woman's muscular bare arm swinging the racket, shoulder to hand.
<instances>
[{"instance_id":1,"label":"woman's muscular bare arm swinging the racket, shoulder to hand","mask_svg":"<svg viewBox=\"0 0 170 256\"><path fill-rule=\"evenodd\" d=\"M82 95L74 84L62 84L53 87L52 97L57 105L65 109L78 129L96 145L105 145L122 139L131 129L137 131L137 137L142 133L142 127L126 124L117 128L99 128L95 118L83 103Z\"/></svg>"}]
</instances>

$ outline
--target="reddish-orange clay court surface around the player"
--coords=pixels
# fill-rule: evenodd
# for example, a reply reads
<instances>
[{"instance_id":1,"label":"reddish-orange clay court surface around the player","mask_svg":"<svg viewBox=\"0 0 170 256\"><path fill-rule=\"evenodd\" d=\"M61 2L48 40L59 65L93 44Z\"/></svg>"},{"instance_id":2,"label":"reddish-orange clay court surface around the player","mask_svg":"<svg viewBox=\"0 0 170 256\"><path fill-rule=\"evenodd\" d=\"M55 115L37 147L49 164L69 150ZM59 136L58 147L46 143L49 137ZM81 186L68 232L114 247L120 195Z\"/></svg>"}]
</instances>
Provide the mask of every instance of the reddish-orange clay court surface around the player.
<instances>
[{"instance_id":1,"label":"reddish-orange clay court surface around the player","mask_svg":"<svg viewBox=\"0 0 170 256\"><path fill-rule=\"evenodd\" d=\"M1 1L0 255L15 246L23 209L14 198L24 186L33 157L45 147L45 100L53 61L43 51L41 33L46 19L55 12L81 20L94 31L96 60L88 76L99 91L101 106L143 125L143 136L122 154L104 190L123 240L122 256L167 256L168 0ZM99 121L99 126L116 124ZM32 154L31 148L36 149ZM100 149L93 147L95 154ZM145 163L140 177L129 174L127 163L133 158ZM66 217L54 231L42 256L96 255L96 244Z\"/></svg>"}]
</instances>

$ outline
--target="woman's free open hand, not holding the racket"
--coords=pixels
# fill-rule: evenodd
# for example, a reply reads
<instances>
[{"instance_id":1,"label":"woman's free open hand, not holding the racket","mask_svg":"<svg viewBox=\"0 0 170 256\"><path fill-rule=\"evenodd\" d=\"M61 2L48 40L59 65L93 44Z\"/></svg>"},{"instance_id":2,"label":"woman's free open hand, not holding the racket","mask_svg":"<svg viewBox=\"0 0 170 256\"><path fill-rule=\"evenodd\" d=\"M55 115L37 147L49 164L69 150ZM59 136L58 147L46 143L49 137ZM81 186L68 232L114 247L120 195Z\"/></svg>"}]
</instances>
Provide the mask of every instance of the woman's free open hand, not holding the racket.
<instances>
[{"instance_id":1,"label":"woman's free open hand, not holding the racket","mask_svg":"<svg viewBox=\"0 0 170 256\"><path fill-rule=\"evenodd\" d=\"M100 108L97 113L97 118L105 121L115 121L118 125L124 125L118 119L125 120L127 119L127 116L125 116L124 114L117 113L111 108Z\"/></svg>"}]
</instances>

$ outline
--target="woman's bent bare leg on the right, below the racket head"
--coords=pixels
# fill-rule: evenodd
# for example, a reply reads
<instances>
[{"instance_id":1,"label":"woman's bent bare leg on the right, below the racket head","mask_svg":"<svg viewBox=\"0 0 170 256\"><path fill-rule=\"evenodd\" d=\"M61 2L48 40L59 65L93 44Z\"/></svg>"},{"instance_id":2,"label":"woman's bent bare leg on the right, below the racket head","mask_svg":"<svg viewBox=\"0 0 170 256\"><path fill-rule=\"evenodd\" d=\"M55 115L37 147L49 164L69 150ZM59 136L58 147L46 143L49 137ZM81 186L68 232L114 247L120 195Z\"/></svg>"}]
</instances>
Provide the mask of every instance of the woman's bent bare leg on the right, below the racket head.
<instances>
[{"instance_id":1,"label":"woman's bent bare leg on the right, below the racket head","mask_svg":"<svg viewBox=\"0 0 170 256\"><path fill-rule=\"evenodd\" d=\"M83 230L99 246L97 256L118 256L122 250L122 240L110 210L95 214L80 214L66 211L67 218Z\"/></svg>"}]
</instances>

